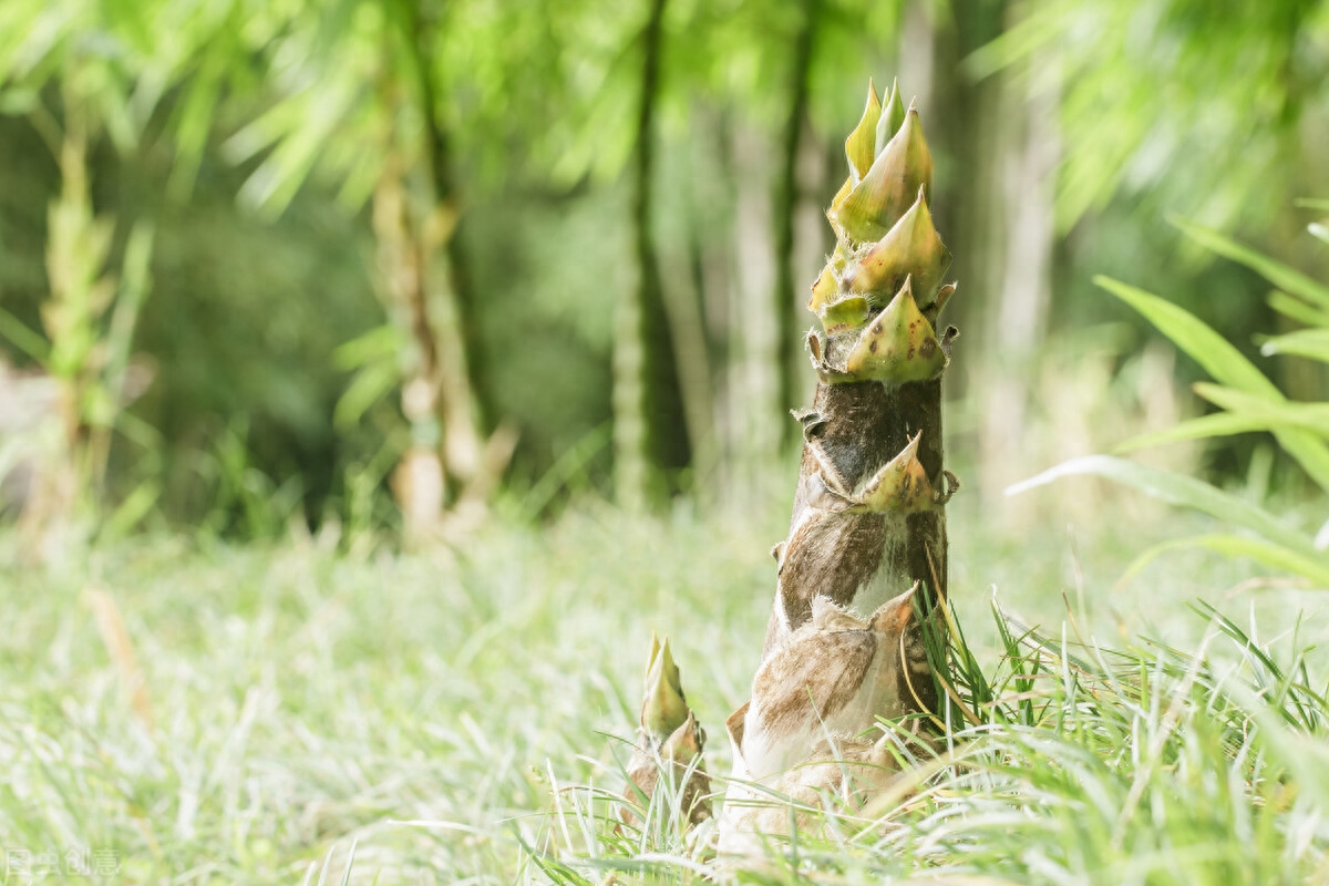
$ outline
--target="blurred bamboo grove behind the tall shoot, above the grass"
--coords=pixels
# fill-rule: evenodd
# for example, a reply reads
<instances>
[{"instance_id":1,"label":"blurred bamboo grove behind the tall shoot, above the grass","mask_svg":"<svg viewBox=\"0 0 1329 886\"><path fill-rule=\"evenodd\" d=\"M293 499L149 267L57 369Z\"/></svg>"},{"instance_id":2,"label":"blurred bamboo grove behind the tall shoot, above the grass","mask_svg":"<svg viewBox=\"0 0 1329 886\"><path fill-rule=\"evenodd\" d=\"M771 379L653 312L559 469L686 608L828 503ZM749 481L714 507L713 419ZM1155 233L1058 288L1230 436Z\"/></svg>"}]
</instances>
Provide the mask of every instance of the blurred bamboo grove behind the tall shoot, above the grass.
<instances>
[{"instance_id":1,"label":"blurred bamboo grove behind the tall shoot, above the grass","mask_svg":"<svg viewBox=\"0 0 1329 886\"><path fill-rule=\"evenodd\" d=\"M936 159L979 511L1203 412L1094 274L1286 331L1170 217L1329 276L1316 0L5 0L0 513L40 554L787 497L869 77ZM1146 458L1304 487L1267 437Z\"/></svg>"}]
</instances>

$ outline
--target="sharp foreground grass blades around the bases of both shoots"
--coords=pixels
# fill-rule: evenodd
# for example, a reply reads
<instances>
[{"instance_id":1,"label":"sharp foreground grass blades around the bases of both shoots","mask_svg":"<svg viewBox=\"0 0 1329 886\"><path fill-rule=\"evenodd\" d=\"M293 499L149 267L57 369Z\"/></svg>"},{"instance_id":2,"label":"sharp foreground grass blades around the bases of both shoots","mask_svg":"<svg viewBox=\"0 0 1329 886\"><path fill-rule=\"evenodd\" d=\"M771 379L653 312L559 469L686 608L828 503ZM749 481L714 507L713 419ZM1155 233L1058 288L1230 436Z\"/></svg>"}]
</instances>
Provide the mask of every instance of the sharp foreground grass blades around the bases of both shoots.
<instances>
[{"instance_id":1,"label":"sharp foreground grass blades around the bases of both shoots","mask_svg":"<svg viewBox=\"0 0 1329 886\"><path fill-rule=\"evenodd\" d=\"M1329 703L1306 650L1280 662L1221 612L1197 608L1209 631L1184 654L1050 638L994 606L999 658L989 668L948 614L949 635L929 640L946 700L936 745L905 721L884 723L904 772L882 796L859 810L771 794L772 808L816 824L772 840L764 858L715 863L766 883L920 871L944 882L1305 882L1329 851L1316 824L1329 796L1301 785L1329 760ZM676 792L661 796L661 809L634 809L645 826L619 828L621 797L565 788L522 849L556 882L606 871L694 882L707 870L695 845L704 836L666 826Z\"/></svg>"}]
</instances>

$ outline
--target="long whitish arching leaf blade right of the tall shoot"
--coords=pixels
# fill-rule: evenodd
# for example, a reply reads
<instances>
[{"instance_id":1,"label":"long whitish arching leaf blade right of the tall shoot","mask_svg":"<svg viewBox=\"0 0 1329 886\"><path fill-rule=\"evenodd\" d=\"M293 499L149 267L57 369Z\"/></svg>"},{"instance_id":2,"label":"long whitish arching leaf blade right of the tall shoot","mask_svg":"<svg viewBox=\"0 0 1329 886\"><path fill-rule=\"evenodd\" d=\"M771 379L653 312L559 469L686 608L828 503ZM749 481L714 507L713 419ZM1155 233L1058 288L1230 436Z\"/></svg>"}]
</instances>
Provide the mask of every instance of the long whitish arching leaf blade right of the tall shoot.
<instances>
[{"instance_id":1,"label":"long whitish arching leaf blade right of the tall shoot","mask_svg":"<svg viewBox=\"0 0 1329 886\"><path fill-rule=\"evenodd\" d=\"M1233 526L1249 529L1257 535L1269 539L1278 539L1292 545L1296 550L1314 554L1314 545L1310 539L1294 529L1277 521L1272 514L1261 507L1245 502L1236 495L1229 495L1221 489L1215 489L1193 477L1176 474L1170 470L1147 468L1124 458L1112 456L1084 456L1062 462L1055 468L1045 470L1037 477L1015 484L1006 489L1007 495L1018 495L1022 491L1045 486L1054 480L1063 477L1094 476L1111 480L1112 482L1130 486L1147 495L1166 501L1170 505L1191 507L1216 519Z\"/></svg>"}]
</instances>

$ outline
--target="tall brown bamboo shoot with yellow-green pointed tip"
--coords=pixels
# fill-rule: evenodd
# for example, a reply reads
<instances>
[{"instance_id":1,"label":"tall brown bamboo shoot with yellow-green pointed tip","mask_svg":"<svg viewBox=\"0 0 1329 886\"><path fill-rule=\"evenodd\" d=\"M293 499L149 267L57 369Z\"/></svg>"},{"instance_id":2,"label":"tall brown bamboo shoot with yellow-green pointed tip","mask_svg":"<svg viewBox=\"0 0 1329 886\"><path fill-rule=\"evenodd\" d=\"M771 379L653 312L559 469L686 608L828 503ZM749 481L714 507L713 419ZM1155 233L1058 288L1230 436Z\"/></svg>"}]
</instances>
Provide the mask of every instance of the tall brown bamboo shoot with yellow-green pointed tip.
<instances>
[{"instance_id":1,"label":"tall brown bamboo shoot with yellow-green pointed tip","mask_svg":"<svg viewBox=\"0 0 1329 886\"><path fill-rule=\"evenodd\" d=\"M799 797L821 773L819 790L861 800L892 766L864 735L878 717L937 707L914 612L916 595L925 611L946 596L945 505L958 482L942 462L941 376L958 331L937 331L956 287L942 284L950 252L932 223L917 110L869 85L845 155L849 178L828 211L835 252L808 303L821 321L807 339L817 391L795 412L804 445L789 535L772 551L751 700L726 725L735 784ZM742 805L754 790L731 788L720 851L788 830L787 817Z\"/></svg>"}]
</instances>

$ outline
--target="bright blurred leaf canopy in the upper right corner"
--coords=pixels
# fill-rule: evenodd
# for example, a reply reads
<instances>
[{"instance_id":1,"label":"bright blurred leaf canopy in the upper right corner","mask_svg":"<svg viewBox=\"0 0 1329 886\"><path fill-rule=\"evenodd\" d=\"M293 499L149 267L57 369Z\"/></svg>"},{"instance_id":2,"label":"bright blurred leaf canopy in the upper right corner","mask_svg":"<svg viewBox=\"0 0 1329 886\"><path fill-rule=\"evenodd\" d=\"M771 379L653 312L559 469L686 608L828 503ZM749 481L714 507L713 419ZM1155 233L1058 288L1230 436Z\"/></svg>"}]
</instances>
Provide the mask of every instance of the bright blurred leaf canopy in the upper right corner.
<instances>
[{"instance_id":1,"label":"bright blurred leaf canopy in the upper right corner","mask_svg":"<svg viewBox=\"0 0 1329 886\"><path fill-rule=\"evenodd\" d=\"M1041 88L1063 90L1063 227L1126 191L1150 210L1261 230L1316 181L1302 145L1325 137L1326 33L1317 0L1055 0L969 66L1022 61Z\"/></svg>"}]
</instances>

